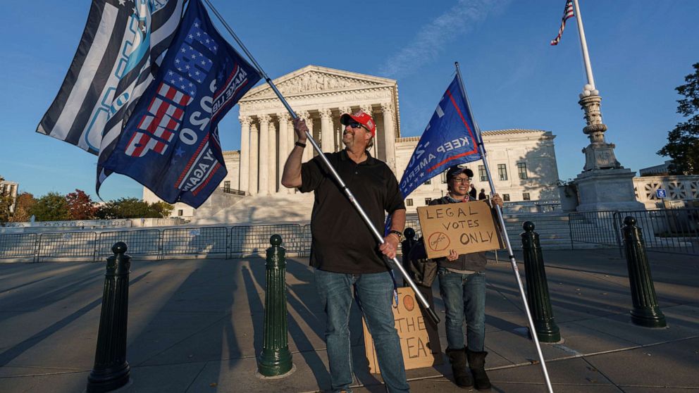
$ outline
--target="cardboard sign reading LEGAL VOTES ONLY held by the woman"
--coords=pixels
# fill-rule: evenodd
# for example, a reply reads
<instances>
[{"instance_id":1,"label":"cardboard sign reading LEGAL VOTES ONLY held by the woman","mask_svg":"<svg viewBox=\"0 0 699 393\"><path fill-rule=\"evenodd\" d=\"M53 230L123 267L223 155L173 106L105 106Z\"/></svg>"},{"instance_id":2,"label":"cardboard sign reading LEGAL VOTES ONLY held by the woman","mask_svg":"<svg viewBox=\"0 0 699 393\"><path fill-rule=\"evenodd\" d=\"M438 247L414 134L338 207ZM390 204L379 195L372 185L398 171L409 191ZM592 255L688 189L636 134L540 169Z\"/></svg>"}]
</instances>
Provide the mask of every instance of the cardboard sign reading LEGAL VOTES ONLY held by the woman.
<instances>
[{"instance_id":1,"label":"cardboard sign reading LEGAL VOTES ONLY held by the woman","mask_svg":"<svg viewBox=\"0 0 699 393\"><path fill-rule=\"evenodd\" d=\"M502 249L500 231L485 201L417 208L428 258Z\"/></svg>"}]
</instances>

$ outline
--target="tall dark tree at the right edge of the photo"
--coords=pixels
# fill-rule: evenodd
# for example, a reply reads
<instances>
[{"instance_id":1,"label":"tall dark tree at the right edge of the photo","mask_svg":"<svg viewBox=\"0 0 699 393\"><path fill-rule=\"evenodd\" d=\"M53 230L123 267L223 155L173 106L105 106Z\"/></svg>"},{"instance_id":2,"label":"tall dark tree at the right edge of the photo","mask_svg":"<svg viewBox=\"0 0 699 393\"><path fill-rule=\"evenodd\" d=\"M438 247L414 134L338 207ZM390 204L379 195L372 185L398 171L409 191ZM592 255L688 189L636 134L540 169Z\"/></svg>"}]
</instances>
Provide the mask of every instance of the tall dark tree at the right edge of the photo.
<instances>
[{"instance_id":1,"label":"tall dark tree at the right edge of the photo","mask_svg":"<svg viewBox=\"0 0 699 393\"><path fill-rule=\"evenodd\" d=\"M684 123L677 123L667 134L667 144L657 151L661 156L670 156L672 175L699 174L699 63L693 65L694 73L684 77L686 85L675 90L685 98L677 100L677 113L689 117Z\"/></svg>"}]
</instances>

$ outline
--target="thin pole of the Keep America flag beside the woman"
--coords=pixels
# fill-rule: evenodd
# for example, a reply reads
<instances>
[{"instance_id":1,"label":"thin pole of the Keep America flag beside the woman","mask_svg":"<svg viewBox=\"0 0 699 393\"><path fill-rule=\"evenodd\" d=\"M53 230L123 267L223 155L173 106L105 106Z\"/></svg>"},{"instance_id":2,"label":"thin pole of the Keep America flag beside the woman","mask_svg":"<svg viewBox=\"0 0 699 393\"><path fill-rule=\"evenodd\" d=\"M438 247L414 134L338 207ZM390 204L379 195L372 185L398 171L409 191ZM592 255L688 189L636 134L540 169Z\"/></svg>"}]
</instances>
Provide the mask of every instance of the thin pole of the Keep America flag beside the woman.
<instances>
[{"instance_id":1,"label":"thin pole of the Keep America flag beside the woman","mask_svg":"<svg viewBox=\"0 0 699 393\"><path fill-rule=\"evenodd\" d=\"M469 102L469 95L466 94L466 87L464 87L464 80L462 80L461 77L461 69L459 68L459 63L455 62L454 65L457 67L457 77L459 78L459 85L461 87L461 91L464 94L464 101L466 101L466 108L469 110L469 113L471 113L471 120L474 121L474 128L476 130L476 136L478 138L477 143L478 147L481 149L481 156L483 157L483 168L485 168L485 175L488 176L488 184L490 185L490 196L493 196L495 194L495 185L493 184L493 177L490 176L490 168L488 168L488 154L485 152L485 146L483 145L483 137L481 136L481 128L478 127L478 123L476 123L476 116L474 116L474 111L471 110L471 103ZM546 362L544 361L544 355L541 352L541 344L539 344L539 339L536 337L536 328L534 326L534 320L531 318L531 311L529 311L529 305L527 304L526 301L526 294L524 294L524 285L522 285L522 279L519 276L519 268L517 268L517 261L514 258L514 252L512 252L512 244L509 243L509 237L507 236L507 230L505 227L505 219L502 218L502 209L500 206L495 205L495 211L497 212L497 220L500 222L500 229L502 230L502 237L505 238L505 246L507 247L507 254L509 256L509 261L512 263L512 271L514 273L514 276L516 277L517 281L517 286L519 286L519 295L521 296L522 303L524 303L524 311L526 313L526 318L529 323L529 334L531 335L531 339L533 340L534 344L536 345L536 352L539 355L539 361L541 363L541 370L543 370L544 373L544 379L546 380L546 386L548 387L548 391L550 393L553 393L553 387L551 386L551 380L548 376L548 369L546 368Z\"/></svg>"}]
</instances>

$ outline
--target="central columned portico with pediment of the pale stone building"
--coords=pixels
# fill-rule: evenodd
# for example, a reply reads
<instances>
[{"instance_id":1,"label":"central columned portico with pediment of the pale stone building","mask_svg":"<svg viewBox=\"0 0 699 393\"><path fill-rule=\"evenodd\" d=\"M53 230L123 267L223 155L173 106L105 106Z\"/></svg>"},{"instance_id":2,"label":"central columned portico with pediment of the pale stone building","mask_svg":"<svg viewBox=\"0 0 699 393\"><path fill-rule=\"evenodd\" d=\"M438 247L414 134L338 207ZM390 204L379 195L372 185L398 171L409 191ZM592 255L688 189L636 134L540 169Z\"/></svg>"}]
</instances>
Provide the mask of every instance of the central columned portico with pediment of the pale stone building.
<instances>
[{"instance_id":1,"label":"central columned portico with pediment of the pale stone building","mask_svg":"<svg viewBox=\"0 0 699 393\"><path fill-rule=\"evenodd\" d=\"M307 66L274 81L323 151L340 151L342 113L362 109L376 120L371 154L395 171L395 141L400 137L395 80L318 66ZM295 142L285 106L268 85L250 90L240 100L240 190L248 195L290 194L281 173ZM304 160L314 149L304 151Z\"/></svg>"}]
</instances>

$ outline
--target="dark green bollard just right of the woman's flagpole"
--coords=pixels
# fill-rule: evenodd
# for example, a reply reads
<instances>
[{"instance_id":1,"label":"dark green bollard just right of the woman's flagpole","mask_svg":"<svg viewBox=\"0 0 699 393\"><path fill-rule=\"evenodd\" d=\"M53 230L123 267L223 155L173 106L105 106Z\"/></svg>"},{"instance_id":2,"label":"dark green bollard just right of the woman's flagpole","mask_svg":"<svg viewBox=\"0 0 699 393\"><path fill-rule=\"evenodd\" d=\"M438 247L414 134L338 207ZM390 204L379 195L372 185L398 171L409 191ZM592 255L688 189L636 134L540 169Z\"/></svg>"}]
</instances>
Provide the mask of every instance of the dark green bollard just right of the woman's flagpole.
<instances>
[{"instance_id":1,"label":"dark green bollard just right of the woman's flagpole","mask_svg":"<svg viewBox=\"0 0 699 393\"><path fill-rule=\"evenodd\" d=\"M539 234L534 232L534 223L531 221L524 223L522 228L524 229L521 237L526 277L526 301L534 321L536 337L539 338L539 342L559 342L561 341L561 332L553 318Z\"/></svg>"}]
</instances>

